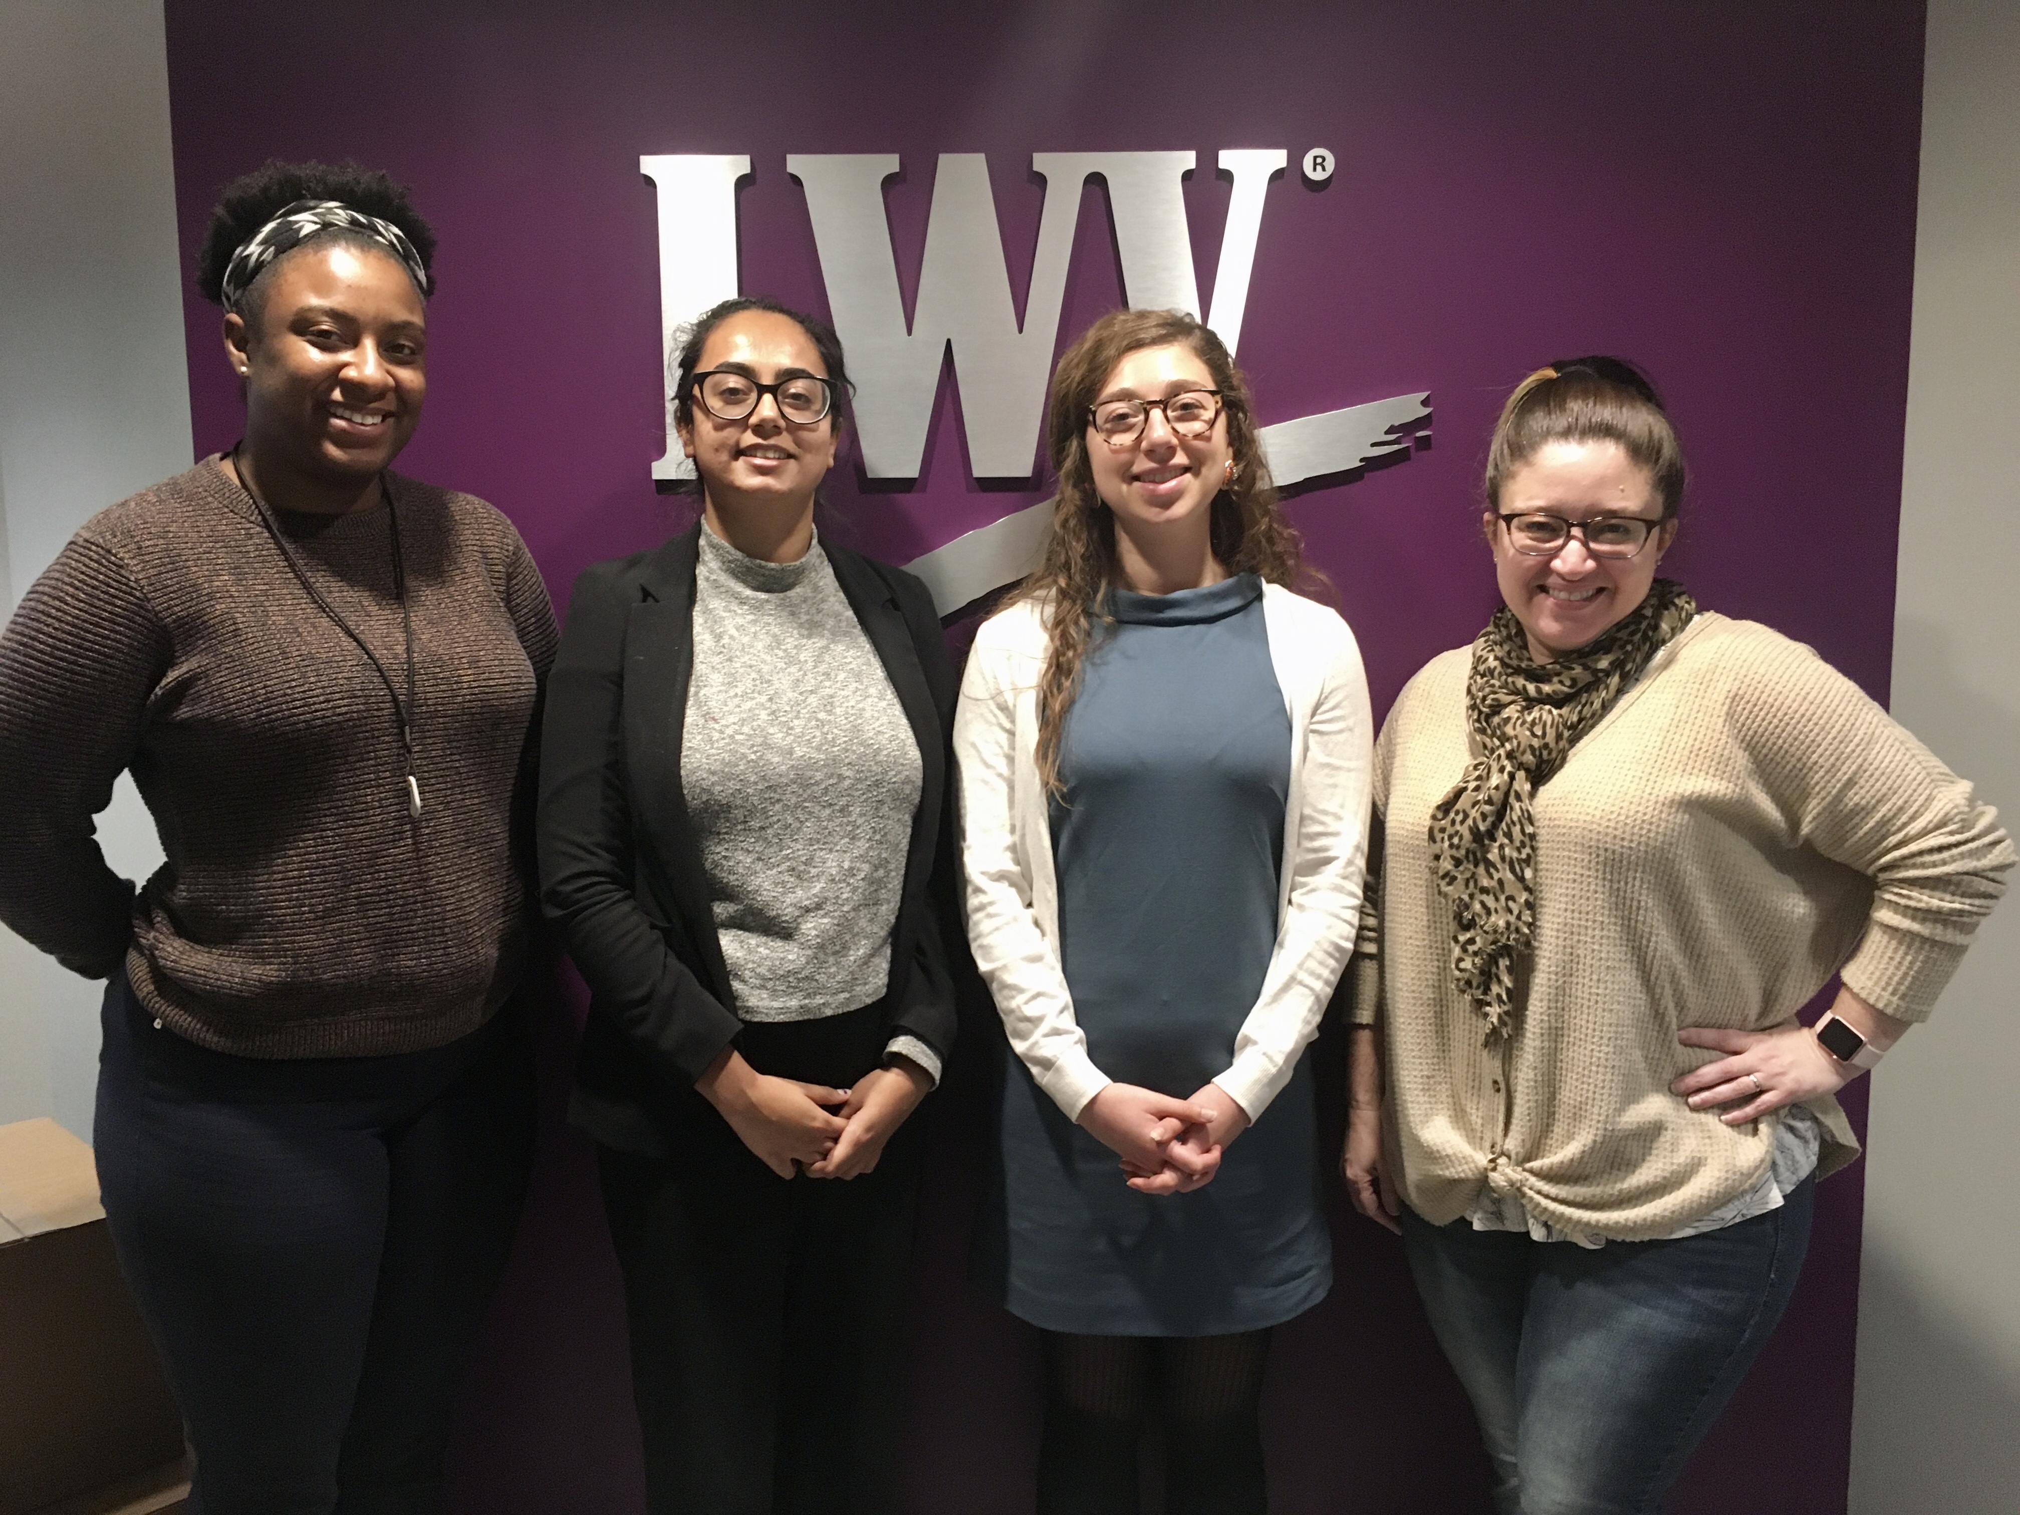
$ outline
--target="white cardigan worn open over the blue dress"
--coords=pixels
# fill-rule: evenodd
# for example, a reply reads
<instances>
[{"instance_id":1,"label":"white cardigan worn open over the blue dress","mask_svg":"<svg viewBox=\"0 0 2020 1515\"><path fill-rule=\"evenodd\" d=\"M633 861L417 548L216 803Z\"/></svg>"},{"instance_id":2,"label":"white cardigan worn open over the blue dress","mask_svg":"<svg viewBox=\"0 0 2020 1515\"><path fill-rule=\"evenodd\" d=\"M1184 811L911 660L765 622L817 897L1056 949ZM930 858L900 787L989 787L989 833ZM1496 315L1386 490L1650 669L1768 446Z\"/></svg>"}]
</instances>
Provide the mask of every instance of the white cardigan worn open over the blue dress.
<instances>
[{"instance_id":1,"label":"white cardigan worn open over the blue dress","mask_svg":"<svg viewBox=\"0 0 2020 1515\"><path fill-rule=\"evenodd\" d=\"M1277 584L1262 588L1262 622L1291 715L1277 947L1234 1063L1214 1079L1250 1119L1289 1083L1353 949L1374 760L1368 677L1347 622ZM1087 1054L1058 957L1052 824L1036 766L1044 652L1044 612L1030 600L982 624L962 677L953 755L976 966L1010 1046L1077 1121L1111 1079Z\"/></svg>"}]
</instances>

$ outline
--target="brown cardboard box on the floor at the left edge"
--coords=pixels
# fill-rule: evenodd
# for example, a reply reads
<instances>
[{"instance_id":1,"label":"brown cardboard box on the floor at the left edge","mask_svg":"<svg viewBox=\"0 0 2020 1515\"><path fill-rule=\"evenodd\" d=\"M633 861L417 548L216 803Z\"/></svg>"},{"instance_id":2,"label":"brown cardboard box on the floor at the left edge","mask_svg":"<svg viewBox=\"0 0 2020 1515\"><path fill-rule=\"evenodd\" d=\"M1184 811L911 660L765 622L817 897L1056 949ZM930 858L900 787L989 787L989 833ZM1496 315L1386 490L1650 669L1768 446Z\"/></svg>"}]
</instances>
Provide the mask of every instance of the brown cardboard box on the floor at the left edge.
<instances>
[{"instance_id":1,"label":"brown cardboard box on the floor at the left edge","mask_svg":"<svg viewBox=\"0 0 2020 1515\"><path fill-rule=\"evenodd\" d=\"M0 1125L0 1515L73 1507L180 1456L91 1147L48 1119Z\"/></svg>"}]
</instances>

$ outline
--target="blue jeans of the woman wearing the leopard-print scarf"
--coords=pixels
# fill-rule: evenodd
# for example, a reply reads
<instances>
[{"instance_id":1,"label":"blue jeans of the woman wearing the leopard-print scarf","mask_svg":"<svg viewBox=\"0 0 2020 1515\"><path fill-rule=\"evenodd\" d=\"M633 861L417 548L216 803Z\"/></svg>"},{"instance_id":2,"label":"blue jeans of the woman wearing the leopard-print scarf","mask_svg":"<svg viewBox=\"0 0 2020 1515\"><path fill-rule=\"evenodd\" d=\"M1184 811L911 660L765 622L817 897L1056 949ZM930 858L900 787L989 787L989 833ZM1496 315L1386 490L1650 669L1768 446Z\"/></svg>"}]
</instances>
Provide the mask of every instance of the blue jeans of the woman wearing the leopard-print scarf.
<instances>
[{"instance_id":1,"label":"blue jeans of the woman wearing the leopard-print scarf","mask_svg":"<svg viewBox=\"0 0 2020 1515\"><path fill-rule=\"evenodd\" d=\"M1780 1210L1673 1242L1533 1242L1432 1226L1404 1250L1481 1418L1501 1515L1652 1515L1774 1333L1816 1180Z\"/></svg>"}]
</instances>

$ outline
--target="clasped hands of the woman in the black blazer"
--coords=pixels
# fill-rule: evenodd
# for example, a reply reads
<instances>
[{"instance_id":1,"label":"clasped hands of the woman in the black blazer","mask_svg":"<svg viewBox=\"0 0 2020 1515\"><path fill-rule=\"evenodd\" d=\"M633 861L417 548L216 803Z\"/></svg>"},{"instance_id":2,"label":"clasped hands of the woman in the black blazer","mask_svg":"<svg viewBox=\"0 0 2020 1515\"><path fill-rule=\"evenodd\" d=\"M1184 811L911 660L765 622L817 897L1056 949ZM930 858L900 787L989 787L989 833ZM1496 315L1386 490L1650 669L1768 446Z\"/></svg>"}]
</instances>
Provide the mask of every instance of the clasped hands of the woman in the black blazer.
<instances>
[{"instance_id":1,"label":"clasped hands of the woman in the black blazer","mask_svg":"<svg viewBox=\"0 0 2020 1515\"><path fill-rule=\"evenodd\" d=\"M931 1087L925 1069L903 1056L865 1073L852 1089L830 1089L758 1073L735 1048L695 1081L737 1139L780 1178L869 1174Z\"/></svg>"}]
</instances>

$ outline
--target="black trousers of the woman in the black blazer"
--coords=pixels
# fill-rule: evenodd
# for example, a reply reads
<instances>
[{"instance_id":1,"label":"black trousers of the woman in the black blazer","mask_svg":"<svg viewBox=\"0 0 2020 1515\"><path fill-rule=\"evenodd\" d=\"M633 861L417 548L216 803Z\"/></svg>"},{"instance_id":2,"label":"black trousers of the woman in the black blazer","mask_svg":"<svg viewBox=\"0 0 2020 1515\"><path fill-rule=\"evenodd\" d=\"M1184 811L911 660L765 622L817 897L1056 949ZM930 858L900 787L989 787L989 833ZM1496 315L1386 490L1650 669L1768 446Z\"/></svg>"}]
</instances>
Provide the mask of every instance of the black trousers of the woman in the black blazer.
<instances>
[{"instance_id":1,"label":"black trousers of the woman in the black blazer","mask_svg":"<svg viewBox=\"0 0 2020 1515\"><path fill-rule=\"evenodd\" d=\"M749 1024L760 1073L846 1089L885 1014ZM650 1515L889 1515L921 1125L875 1172L778 1178L693 1091L671 1159L598 1147Z\"/></svg>"}]
</instances>

